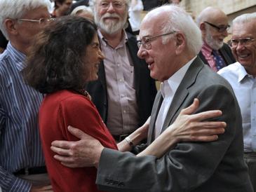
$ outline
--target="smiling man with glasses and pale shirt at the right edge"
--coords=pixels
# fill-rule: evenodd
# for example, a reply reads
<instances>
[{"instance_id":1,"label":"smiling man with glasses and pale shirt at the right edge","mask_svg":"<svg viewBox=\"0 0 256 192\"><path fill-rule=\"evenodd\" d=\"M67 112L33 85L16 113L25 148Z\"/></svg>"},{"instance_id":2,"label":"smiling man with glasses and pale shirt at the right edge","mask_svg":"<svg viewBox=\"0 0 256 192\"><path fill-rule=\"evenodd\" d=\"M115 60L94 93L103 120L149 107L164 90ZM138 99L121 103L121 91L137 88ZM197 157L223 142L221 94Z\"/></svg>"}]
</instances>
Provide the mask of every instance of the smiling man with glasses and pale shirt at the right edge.
<instances>
[{"instance_id":1,"label":"smiling man with glasses and pale shirt at the right edge","mask_svg":"<svg viewBox=\"0 0 256 192\"><path fill-rule=\"evenodd\" d=\"M241 108L244 159L256 191L256 13L234 19L230 46L237 62L218 73L231 84Z\"/></svg>"}]
</instances>

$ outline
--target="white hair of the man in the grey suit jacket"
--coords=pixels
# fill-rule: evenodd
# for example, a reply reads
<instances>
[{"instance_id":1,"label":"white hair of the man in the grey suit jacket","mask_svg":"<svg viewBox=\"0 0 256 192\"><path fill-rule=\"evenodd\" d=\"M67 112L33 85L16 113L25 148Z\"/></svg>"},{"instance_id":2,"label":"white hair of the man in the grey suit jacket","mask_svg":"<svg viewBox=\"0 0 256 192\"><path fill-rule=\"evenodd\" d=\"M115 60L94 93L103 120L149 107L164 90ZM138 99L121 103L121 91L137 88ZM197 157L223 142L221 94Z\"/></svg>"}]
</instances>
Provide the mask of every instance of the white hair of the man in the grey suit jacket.
<instances>
[{"instance_id":1,"label":"white hair of the man in the grey suit jacket","mask_svg":"<svg viewBox=\"0 0 256 192\"><path fill-rule=\"evenodd\" d=\"M152 12L155 11L159 11L160 13L164 11L167 13L166 19L163 20L163 23L161 24L161 31L163 33L173 31L182 32L182 34L184 34L189 51L196 55L200 52L203 45L201 31L196 26L196 23L191 18L191 16L186 11L184 11L183 8L175 5L166 5L152 10ZM163 44L166 44L168 41L170 41L171 37L172 36L162 36Z\"/></svg>"}]
</instances>

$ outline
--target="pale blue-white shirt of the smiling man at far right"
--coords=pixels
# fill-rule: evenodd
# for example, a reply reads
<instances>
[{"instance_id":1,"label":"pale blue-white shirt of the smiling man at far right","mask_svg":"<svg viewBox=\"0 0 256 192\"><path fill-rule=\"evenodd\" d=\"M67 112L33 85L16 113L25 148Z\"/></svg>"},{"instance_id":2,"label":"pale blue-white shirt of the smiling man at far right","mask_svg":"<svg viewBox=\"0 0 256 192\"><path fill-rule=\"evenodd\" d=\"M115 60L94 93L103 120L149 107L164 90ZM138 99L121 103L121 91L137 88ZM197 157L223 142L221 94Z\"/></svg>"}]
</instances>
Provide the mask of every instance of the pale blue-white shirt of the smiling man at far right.
<instances>
[{"instance_id":1,"label":"pale blue-white shirt of the smiling man at far right","mask_svg":"<svg viewBox=\"0 0 256 192\"><path fill-rule=\"evenodd\" d=\"M256 151L256 79L239 62L220 69L218 74L229 81L241 108L244 151Z\"/></svg>"}]
</instances>

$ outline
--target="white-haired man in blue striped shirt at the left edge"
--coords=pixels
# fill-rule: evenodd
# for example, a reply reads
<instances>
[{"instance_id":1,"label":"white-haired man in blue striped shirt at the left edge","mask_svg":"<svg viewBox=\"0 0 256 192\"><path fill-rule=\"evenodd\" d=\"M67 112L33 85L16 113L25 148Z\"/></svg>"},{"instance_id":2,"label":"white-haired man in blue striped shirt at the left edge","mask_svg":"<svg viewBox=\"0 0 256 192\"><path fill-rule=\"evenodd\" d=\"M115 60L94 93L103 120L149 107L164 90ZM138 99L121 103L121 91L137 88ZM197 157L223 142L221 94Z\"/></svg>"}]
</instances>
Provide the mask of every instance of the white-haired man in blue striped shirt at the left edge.
<instances>
[{"instance_id":1,"label":"white-haired man in blue striped shirt at the left edge","mask_svg":"<svg viewBox=\"0 0 256 192\"><path fill-rule=\"evenodd\" d=\"M0 55L0 186L2 191L50 190L39 139L43 95L21 71L34 36L50 22L48 0L0 0L0 29L9 40Z\"/></svg>"}]
</instances>

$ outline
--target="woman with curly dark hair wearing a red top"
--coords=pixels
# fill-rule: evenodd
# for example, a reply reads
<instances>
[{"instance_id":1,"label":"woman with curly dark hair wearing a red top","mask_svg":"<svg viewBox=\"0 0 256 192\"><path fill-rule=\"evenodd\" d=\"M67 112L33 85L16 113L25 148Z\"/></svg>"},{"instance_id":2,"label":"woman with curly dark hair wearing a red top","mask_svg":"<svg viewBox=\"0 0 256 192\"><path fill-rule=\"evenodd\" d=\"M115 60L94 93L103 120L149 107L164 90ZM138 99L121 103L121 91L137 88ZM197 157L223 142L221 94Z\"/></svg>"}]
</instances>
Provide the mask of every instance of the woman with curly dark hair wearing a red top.
<instances>
[{"instance_id":1,"label":"woman with curly dark hair wearing a red top","mask_svg":"<svg viewBox=\"0 0 256 192\"><path fill-rule=\"evenodd\" d=\"M53 157L55 153L50 150L51 142L79 140L69 132L69 125L97 138L103 146L116 150L119 148L121 151L130 150L131 144L137 144L147 137L148 123L145 123L130 135L132 141L126 139L117 147L95 105L90 101L90 95L83 89L86 82L97 79L98 64L103 58L95 24L79 17L62 17L51 22L36 36L29 51L27 67L22 73L27 84L45 94L39 110L39 128L46 167L54 191L98 191L95 185L95 167L70 168ZM196 104L187 112L183 111L183 116L177 118L180 124L173 123L170 126L172 130L168 128L160 139L156 139L140 155L161 156L168 147L179 141L206 142L217 139L216 134L224 131L220 128L220 123L215 126L212 124L209 128L207 123L202 126L198 121L219 116L220 111L215 111L210 116L197 114L189 119L187 114L195 109ZM213 127L219 129L215 130ZM203 129L208 132L197 134ZM191 135L194 137L191 138ZM72 156L71 153L69 155Z\"/></svg>"}]
</instances>

